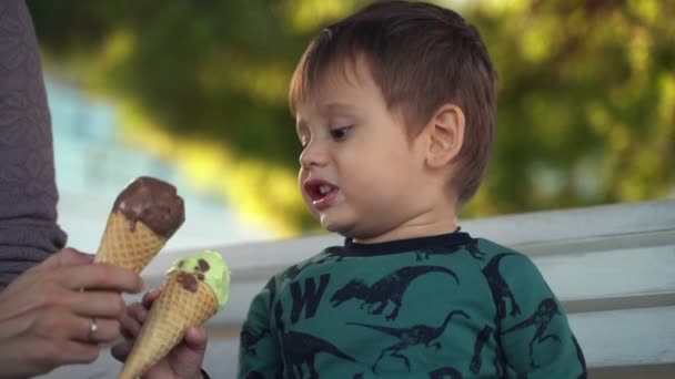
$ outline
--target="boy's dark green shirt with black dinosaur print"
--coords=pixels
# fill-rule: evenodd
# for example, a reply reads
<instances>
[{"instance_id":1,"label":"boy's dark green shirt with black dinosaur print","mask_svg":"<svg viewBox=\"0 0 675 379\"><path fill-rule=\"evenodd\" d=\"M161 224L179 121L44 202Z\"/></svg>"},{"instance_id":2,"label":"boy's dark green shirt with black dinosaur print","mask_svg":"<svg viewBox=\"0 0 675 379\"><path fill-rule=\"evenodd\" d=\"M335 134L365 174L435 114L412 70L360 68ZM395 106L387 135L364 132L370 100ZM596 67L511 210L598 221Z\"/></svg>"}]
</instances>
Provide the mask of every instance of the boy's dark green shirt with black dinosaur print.
<instances>
[{"instance_id":1,"label":"boy's dark green shirt with black dinosaur print","mask_svg":"<svg viewBox=\"0 0 675 379\"><path fill-rule=\"evenodd\" d=\"M585 378L525 255L466 233L329 247L275 275L242 328L239 378Z\"/></svg>"}]
</instances>

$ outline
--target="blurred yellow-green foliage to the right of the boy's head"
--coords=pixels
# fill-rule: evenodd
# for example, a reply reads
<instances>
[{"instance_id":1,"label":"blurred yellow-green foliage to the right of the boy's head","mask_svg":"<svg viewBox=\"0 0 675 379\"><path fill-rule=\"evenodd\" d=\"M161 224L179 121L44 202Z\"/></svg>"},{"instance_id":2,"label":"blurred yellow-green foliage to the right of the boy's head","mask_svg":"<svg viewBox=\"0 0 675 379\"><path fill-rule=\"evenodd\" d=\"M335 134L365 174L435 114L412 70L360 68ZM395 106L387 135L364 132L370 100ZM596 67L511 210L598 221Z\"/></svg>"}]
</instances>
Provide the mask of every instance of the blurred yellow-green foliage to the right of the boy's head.
<instances>
[{"instance_id":1,"label":"blurred yellow-green foliage to the right of the boy's head","mask_svg":"<svg viewBox=\"0 0 675 379\"><path fill-rule=\"evenodd\" d=\"M675 3L483 3L471 16L501 74L491 209L673 196Z\"/></svg>"}]
</instances>

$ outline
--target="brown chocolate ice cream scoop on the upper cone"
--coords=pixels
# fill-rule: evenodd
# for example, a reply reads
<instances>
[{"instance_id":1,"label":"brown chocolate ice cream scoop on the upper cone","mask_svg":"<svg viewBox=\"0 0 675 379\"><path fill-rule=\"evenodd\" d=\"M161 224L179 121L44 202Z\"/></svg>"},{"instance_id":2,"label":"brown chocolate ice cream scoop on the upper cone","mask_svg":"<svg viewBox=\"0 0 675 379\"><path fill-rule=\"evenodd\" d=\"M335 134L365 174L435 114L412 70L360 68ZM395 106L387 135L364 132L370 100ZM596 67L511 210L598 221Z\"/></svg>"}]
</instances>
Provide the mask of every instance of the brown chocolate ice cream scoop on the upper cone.
<instances>
[{"instance_id":1,"label":"brown chocolate ice cream scoop on the upper cone","mask_svg":"<svg viewBox=\"0 0 675 379\"><path fill-rule=\"evenodd\" d=\"M175 187L149 176L131 182L114 201L112 212L121 212L131 231L140 221L165 238L171 237L185 221L183 198L177 194Z\"/></svg>"}]
</instances>

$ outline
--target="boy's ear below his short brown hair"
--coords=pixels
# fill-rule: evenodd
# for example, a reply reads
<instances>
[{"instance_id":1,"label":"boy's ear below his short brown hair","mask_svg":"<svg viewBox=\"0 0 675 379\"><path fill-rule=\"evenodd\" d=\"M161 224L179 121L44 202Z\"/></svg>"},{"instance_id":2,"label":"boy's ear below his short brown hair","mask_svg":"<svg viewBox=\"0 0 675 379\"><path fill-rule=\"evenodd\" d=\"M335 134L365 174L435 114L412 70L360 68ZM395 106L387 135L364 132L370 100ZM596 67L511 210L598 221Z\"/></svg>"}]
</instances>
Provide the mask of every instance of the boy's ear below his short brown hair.
<instances>
[{"instance_id":1,"label":"boy's ear below his short brown hair","mask_svg":"<svg viewBox=\"0 0 675 379\"><path fill-rule=\"evenodd\" d=\"M464 112L455 104L444 104L436 111L427 124L426 163L430 167L444 167L460 154L464 124Z\"/></svg>"}]
</instances>

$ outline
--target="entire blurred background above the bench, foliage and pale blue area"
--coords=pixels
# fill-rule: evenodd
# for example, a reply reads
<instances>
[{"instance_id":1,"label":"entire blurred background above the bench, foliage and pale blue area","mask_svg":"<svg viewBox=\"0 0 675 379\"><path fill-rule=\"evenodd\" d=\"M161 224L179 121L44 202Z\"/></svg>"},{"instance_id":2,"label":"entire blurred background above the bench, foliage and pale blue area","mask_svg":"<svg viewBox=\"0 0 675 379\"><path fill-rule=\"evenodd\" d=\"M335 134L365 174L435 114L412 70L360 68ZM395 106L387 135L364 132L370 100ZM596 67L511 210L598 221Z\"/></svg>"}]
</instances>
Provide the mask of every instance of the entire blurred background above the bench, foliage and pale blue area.
<instances>
[{"instance_id":1,"label":"entire blurred background above the bench, foliage and pale blue area","mask_svg":"<svg viewBox=\"0 0 675 379\"><path fill-rule=\"evenodd\" d=\"M60 223L94 250L139 175L187 199L172 247L318 233L286 107L310 39L362 0L32 0ZM497 139L463 218L675 197L675 1L435 1L500 74Z\"/></svg>"}]
</instances>

